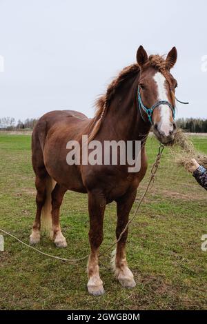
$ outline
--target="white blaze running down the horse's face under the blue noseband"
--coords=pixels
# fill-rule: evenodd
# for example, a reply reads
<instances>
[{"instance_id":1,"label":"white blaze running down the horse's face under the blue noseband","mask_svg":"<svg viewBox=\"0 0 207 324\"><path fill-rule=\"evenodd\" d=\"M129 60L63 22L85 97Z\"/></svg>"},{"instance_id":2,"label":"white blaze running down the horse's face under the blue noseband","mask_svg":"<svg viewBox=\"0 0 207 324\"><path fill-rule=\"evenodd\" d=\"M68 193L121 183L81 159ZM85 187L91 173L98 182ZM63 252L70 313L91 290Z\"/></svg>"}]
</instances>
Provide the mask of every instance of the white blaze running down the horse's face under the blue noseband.
<instances>
[{"instance_id":1,"label":"white blaze running down the horse's face under the blue noseband","mask_svg":"<svg viewBox=\"0 0 207 324\"><path fill-rule=\"evenodd\" d=\"M167 89L165 86L166 78L160 72L157 72L153 77L155 83L157 84L157 101L165 100L168 101L167 96ZM168 136L170 130L172 130L172 123L170 122L170 114L171 110L168 105L159 105L160 111L160 123L159 123L159 130L164 132L166 136Z\"/></svg>"}]
</instances>

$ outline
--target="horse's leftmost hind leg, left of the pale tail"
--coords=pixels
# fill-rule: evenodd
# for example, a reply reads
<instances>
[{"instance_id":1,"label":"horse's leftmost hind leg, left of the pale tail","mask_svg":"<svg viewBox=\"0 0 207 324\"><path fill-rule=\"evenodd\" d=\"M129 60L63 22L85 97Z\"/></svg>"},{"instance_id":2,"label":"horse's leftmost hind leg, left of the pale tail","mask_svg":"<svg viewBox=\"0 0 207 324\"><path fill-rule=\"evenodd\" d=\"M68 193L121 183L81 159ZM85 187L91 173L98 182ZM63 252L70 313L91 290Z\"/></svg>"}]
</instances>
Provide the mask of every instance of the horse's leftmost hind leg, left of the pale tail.
<instances>
[{"instance_id":1,"label":"horse's leftmost hind leg, left of the pale tail","mask_svg":"<svg viewBox=\"0 0 207 324\"><path fill-rule=\"evenodd\" d=\"M32 227L32 234L30 235L30 244L34 245L40 241L40 227L41 227L41 210L46 201L46 181L47 176L36 176L35 186L37 189L36 204L37 212Z\"/></svg>"}]
</instances>

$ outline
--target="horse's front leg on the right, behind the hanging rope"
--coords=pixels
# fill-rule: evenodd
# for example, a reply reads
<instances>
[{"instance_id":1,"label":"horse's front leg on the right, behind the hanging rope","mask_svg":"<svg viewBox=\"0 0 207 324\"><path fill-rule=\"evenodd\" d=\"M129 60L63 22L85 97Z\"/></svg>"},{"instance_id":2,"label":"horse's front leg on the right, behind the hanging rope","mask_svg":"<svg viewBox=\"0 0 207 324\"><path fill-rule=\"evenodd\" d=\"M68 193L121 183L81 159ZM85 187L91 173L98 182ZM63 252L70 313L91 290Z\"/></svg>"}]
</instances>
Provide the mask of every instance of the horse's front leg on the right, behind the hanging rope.
<instances>
[{"instance_id":1,"label":"horse's front leg on the right, behind the hanging rope","mask_svg":"<svg viewBox=\"0 0 207 324\"><path fill-rule=\"evenodd\" d=\"M135 201L137 190L124 195L117 201L117 230L116 236L119 239L119 235L124 230L124 227L128 223L128 215L130 213L132 204ZM132 288L136 283L131 270L128 267L126 261L126 240L128 236L128 229L121 236L121 240L117 243L117 249L112 257L112 267L115 271L115 275L122 286Z\"/></svg>"}]
</instances>

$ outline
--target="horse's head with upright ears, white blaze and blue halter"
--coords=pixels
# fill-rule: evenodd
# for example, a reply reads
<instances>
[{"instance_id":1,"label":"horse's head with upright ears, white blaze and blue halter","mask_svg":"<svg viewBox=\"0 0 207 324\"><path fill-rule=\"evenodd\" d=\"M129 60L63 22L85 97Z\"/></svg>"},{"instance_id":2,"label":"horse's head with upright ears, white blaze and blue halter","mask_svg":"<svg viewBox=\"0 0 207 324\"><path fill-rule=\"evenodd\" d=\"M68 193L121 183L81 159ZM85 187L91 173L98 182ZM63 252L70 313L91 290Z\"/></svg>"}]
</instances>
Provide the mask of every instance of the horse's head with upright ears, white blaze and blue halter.
<instances>
[{"instance_id":1,"label":"horse's head with upright ears, white blaze and blue halter","mask_svg":"<svg viewBox=\"0 0 207 324\"><path fill-rule=\"evenodd\" d=\"M166 59L150 55L142 46L137 50L137 63L141 68L138 101L141 114L152 123L153 132L161 143L169 143L175 134L175 88L177 81L170 69L177 60L177 50L172 48Z\"/></svg>"}]
</instances>

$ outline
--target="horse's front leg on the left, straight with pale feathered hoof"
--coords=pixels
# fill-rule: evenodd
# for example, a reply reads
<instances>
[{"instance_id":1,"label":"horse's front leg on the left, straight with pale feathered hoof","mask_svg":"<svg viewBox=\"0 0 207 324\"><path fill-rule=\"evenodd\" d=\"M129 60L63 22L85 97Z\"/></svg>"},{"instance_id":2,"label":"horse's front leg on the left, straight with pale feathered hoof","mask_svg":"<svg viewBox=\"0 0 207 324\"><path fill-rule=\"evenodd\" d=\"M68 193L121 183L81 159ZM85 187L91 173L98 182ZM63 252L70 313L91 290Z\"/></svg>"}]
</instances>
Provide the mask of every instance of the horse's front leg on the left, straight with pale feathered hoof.
<instances>
[{"instance_id":1,"label":"horse's front leg on the left, straight with pale feathered hoof","mask_svg":"<svg viewBox=\"0 0 207 324\"><path fill-rule=\"evenodd\" d=\"M99 193L88 193L88 212L90 216L90 256L88 259L88 292L99 296L104 293L103 281L99 276L99 246L103 241L103 216L106 207L106 199Z\"/></svg>"}]
</instances>

